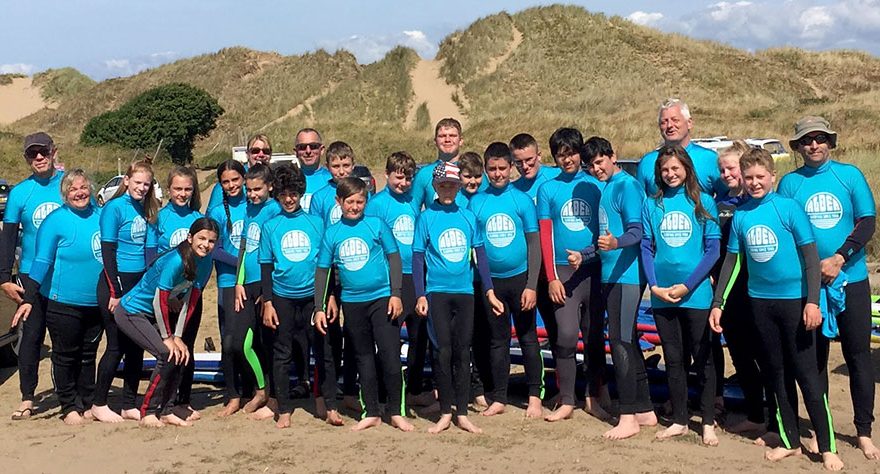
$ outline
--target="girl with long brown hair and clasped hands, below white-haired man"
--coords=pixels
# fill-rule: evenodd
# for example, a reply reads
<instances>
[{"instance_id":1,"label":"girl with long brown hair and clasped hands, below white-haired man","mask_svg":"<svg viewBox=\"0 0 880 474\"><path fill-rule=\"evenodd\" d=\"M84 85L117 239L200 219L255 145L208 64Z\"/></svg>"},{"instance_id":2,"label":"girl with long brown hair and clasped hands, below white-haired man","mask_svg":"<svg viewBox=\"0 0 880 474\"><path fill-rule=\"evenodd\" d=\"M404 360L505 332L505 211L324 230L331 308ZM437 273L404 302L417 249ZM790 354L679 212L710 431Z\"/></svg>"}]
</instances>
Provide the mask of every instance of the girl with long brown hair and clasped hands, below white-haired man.
<instances>
[{"instance_id":1,"label":"girl with long brown hair and clasped hands, below white-haired man","mask_svg":"<svg viewBox=\"0 0 880 474\"><path fill-rule=\"evenodd\" d=\"M702 440L717 446L715 369L707 325L712 303L709 272L718 261L721 230L715 201L700 191L693 162L678 145L664 145L654 165L657 193L642 209L642 266L672 402L672 425L657 432L669 439L688 432L687 361L699 377ZM700 255L700 259L694 256Z\"/></svg>"}]
</instances>

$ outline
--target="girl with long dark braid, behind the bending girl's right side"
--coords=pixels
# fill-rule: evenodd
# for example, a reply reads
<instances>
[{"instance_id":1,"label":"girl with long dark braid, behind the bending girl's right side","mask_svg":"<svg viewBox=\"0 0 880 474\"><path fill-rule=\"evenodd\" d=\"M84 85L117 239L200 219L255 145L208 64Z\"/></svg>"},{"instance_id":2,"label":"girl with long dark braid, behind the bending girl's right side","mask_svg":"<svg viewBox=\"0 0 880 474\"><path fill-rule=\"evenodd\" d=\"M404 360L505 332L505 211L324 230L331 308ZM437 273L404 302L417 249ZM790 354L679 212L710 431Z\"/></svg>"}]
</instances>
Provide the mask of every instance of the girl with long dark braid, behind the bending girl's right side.
<instances>
[{"instance_id":1,"label":"girl with long dark braid, behind the bending girl's right side","mask_svg":"<svg viewBox=\"0 0 880 474\"><path fill-rule=\"evenodd\" d=\"M226 402L218 416L229 416L241 409L241 394L249 392L253 385L250 377L244 375L248 365L242 354L243 345L235 344L233 331L235 317L235 280L238 254L241 247L241 233L244 229L247 199L244 191L244 166L235 160L227 160L217 167L217 181L223 187L223 204L211 210L209 217L220 225L220 236L211 258L217 268L217 304L220 306L217 317L220 325L222 354L220 366L226 384ZM226 321L229 319L230 321Z\"/></svg>"}]
</instances>

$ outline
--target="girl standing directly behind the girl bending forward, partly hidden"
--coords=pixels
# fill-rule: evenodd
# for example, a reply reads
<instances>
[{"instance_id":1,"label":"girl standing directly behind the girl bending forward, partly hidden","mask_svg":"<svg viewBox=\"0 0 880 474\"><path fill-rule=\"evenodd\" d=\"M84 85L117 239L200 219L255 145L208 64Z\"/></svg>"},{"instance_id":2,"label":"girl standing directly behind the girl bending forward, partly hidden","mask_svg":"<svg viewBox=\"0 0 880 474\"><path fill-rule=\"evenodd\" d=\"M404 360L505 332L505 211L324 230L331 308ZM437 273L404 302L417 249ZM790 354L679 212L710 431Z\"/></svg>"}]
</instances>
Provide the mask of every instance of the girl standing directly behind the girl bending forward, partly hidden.
<instances>
[{"instance_id":1,"label":"girl standing directly behind the girl bending forward, partly hidden","mask_svg":"<svg viewBox=\"0 0 880 474\"><path fill-rule=\"evenodd\" d=\"M199 217L204 217L199 212L202 207L199 180L192 168L184 166L172 168L168 173L165 189L168 190L168 204L159 210L156 223L147 228L148 262L152 262L158 254L167 252L186 240L192 223ZM195 353L195 343L201 323L202 300L199 298L198 304L193 309L192 322L187 325L187 331L183 334L183 342L186 343L191 354ZM195 359L190 358L183 371L176 404L189 408L192 411L190 419L197 420L201 418L201 414L190 406L194 372Z\"/></svg>"}]
</instances>

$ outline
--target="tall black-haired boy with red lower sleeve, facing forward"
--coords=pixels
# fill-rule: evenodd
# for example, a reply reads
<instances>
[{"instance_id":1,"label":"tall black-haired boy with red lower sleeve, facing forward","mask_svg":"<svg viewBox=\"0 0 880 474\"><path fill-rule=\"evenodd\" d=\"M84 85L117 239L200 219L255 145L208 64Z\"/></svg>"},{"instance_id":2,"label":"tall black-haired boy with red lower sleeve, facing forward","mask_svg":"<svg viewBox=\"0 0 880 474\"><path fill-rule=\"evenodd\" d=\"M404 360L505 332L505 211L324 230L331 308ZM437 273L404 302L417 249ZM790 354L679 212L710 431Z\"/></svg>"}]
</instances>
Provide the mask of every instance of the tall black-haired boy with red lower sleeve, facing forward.
<instances>
[{"instance_id":1,"label":"tall black-haired boy with red lower sleeve, facing forward","mask_svg":"<svg viewBox=\"0 0 880 474\"><path fill-rule=\"evenodd\" d=\"M605 368L605 321L596 254L601 183L581 169L583 146L583 136L574 128L553 132L550 153L561 172L538 188L541 259L553 302L553 316L545 316L544 324L554 345L560 398L559 407L544 418L551 422L568 419L574 412L578 331L584 339L588 383L585 409L596 418L610 418L600 405ZM570 266L569 256L575 258L574 254L580 254L577 269Z\"/></svg>"}]
</instances>

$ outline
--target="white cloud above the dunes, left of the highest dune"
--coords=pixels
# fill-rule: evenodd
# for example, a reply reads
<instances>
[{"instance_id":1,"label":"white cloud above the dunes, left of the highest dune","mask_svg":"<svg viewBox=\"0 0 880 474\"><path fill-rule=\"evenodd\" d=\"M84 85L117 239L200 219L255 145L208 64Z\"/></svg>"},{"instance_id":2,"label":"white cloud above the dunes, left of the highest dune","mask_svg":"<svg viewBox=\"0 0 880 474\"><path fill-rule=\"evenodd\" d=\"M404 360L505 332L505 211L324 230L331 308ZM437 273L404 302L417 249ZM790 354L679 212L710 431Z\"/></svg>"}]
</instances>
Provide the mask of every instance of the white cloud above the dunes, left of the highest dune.
<instances>
[{"instance_id":1,"label":"white cloud above the dunes, left of the highest dune","mask_svg":"<svg viewBox=\"0 0 880 474\"><path fill-rule=\"evenodd\" d=\"M433 58L437 54L437 45L419 30L404 30L391 35L360 36L351 35L338 40L325 40L318 47L350 51L362 64L369 64L382 59L395 46L412 48L423 58Z\"/></svg>"}]
</instances>

